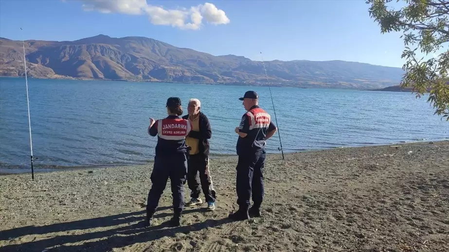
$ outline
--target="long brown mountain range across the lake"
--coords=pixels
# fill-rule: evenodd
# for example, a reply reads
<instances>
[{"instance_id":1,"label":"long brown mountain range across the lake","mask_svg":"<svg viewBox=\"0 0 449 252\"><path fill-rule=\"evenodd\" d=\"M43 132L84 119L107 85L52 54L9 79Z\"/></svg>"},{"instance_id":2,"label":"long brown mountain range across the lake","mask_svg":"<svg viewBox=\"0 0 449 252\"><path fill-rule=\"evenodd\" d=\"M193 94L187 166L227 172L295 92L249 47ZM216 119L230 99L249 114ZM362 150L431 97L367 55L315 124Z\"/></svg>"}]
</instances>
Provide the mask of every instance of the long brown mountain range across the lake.
<instances>
[{"instance_id":1,"label":"long brown mountain range across the lake","mask_svg":"<svg viewBox=\"0 0 449 252\"><path fill-rule=\"evenodd\" d=\"M106 35L75 41L25 41L28 75L149 82L266 85L262 62L214 56L146 37ZM24 76L21 41L0 38L0 76ZM265 62L272 85L380 88L397 84L398 67L345 61Z\"/></svg>"}]
</instances>

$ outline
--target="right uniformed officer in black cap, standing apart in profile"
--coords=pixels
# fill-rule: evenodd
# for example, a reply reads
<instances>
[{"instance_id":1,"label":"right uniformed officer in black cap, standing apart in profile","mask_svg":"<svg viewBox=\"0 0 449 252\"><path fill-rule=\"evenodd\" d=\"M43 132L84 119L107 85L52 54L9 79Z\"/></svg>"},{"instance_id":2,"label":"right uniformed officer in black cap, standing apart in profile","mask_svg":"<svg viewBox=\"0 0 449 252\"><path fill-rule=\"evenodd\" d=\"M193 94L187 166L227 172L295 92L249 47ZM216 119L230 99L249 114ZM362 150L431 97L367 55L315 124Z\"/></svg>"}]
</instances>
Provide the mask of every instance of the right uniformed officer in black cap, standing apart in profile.
<instances>
[{"instance_id":1,"label":"right uniformed officer in black cap, standing apart in profile","mask_svg":"<svg viewBox=\"0 0 449 252\"><path fill-rule=\"evenodd\" d=\"M247 91L243 98L247 113L243 115L240 126L235 128L237 140L237 204L238 210L229 215L234 220L260 217L260 205L264 197L263 168L265 164L265 141L276 133L277 128L270 115L259 107L259 96L254 91ZM253 205L248 210L251 202Z\"/></svg>"}]
</instances>

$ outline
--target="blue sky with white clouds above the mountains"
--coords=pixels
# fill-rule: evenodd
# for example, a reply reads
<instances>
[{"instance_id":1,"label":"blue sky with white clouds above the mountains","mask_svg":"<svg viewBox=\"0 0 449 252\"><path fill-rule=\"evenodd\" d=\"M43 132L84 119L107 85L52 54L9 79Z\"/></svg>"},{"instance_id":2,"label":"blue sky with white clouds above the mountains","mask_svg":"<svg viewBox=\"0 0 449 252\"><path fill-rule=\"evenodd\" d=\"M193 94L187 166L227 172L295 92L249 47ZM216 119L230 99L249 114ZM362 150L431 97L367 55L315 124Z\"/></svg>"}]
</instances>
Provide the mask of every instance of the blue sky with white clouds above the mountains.
<instances>
[{"instance_id":1,"label":"blue sky with white clouds above the mountains","mask_svg":"<svg viewBox=\"0 0 449 252\"><path fill-rule=\"evenodd\" d=\"M402 67L401 34L381 34L368 8L365 0L0 0L0 37L144 36L252 60Z\"/></svg>"}]
</instances>

